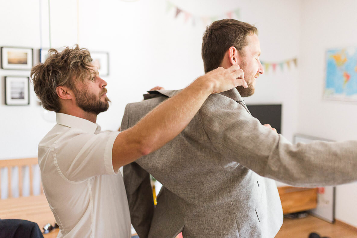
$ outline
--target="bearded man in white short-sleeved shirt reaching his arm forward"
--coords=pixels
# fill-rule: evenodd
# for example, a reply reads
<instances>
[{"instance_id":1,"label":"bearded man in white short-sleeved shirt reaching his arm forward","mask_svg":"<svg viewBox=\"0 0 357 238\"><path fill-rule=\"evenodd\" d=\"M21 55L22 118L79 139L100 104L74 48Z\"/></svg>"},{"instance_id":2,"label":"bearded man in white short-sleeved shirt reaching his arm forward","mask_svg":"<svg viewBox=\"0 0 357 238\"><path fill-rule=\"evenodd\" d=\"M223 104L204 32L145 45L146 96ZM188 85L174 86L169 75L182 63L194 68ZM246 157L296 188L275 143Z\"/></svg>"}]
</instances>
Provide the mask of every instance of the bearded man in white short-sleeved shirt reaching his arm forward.
<instances>
[{"instance_id":1,"label":"bearded man in white short-sleeved shirt reaching his arm forward","mask_svg":"<svg viewBox=\"0 0 357 238\"><path fill-rule=\"evenodd\" d=\"M51 49L45 63L32 68L35 93L57 118L39 143L42 185L60 227L58 237L129 238L130 215L119 168L178 135L211 93L247 83L239 66L217 68L132 128L102 132L95 122L109 107L107 83L91 61L90 53L76 46L62 52Z\"/></svg>"}]
</instances>

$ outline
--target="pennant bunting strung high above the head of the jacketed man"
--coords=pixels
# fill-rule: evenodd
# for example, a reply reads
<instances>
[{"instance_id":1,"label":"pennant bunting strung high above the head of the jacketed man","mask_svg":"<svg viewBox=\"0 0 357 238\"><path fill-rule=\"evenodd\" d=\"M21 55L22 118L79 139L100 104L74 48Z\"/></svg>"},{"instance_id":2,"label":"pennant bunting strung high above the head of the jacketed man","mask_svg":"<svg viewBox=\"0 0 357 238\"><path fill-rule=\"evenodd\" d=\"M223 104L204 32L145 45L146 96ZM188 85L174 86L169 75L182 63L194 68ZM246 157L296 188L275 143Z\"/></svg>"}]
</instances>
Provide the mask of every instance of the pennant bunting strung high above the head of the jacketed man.
<instances>
[{"instance_id":1,"label":"pennant bunting strung high above the head of the jacketed man","mask_svg":"<svg viewBox=\"0 0 357 238\"><path fill-rule=\"evenodd\" d=\"M166 1L166 3L167 3L166 12L170 12L172 9L175 9L175 18L177 18L182 12L184 15L185 23L191 20L193 26L196 25L198 20L200 20L202 24L206 26L218 19L225 19L225 18L240 19L240 9L234 9L232 11L226 12L225 14L217 15L217 16L198 16L192 14L192 12L188 12L186 10L181 9L180 7L174 5L170 1Z\"/></svg>"}]
</instances>

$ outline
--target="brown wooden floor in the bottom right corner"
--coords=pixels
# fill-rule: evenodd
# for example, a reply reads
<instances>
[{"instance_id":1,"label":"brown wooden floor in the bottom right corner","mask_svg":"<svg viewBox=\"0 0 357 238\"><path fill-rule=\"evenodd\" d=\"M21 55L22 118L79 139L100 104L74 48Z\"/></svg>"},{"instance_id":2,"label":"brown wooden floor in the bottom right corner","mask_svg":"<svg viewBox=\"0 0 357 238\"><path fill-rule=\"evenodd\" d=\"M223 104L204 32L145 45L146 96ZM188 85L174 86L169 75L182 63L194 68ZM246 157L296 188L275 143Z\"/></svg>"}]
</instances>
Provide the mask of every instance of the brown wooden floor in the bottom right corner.
<instances>
[{"instance_id":1,"label":"brown wooden floor in the bottom right corner","mask_svg":"<svg viewBox=\"0 0 357 238\"><path fill-rule=\"evenodd\" d=\"M357 238L357 228L348 227L341 222L331 224L310 215L301 219L284 218L283 226L275 238L308 238L311 232L321 237Z\"/></svg>"}]
</instances>

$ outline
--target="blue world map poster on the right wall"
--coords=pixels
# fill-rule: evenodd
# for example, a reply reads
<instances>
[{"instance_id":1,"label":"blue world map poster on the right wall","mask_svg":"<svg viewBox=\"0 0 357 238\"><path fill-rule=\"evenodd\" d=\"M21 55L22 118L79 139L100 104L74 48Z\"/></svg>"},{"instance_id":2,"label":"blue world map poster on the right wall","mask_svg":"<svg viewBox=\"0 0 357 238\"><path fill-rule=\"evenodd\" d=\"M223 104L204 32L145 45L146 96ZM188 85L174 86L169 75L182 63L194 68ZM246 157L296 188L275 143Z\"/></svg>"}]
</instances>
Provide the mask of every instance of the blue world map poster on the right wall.
<instances>
[{"instance_id":1,"label":"blue world map poster on the right wall","mask_svg":"<svg viewBox=\"0 0 357 238\"><path fill-rule=\"evenodd\" d=\"M357 47L326 51L324 98L357 101Z\"/></svg>"}]
</instances>

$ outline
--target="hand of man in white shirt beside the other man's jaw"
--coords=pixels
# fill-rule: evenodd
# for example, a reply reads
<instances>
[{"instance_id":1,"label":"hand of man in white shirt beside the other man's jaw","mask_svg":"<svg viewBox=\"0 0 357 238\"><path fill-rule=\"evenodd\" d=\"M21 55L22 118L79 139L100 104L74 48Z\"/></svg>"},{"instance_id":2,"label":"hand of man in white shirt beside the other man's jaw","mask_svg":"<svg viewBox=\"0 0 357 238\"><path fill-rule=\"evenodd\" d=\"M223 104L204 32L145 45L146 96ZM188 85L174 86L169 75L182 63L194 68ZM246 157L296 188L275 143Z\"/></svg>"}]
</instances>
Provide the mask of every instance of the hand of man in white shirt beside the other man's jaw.
<instances>
[{"instance_id":1,"label":"hand of man in white shirt beside the other man's jaw","mask_svg":"<svg viewBox=\"0 0 357 238\"><path fill-rule=\"evenodd\" d=\"M247 82L244 80L243 70L236 64L227 69L218 67L197 78L193 83L200 83L200 81L211 82L212 93L224 92L237 86L248 87Z\"/></svg>"}]
</instances>

